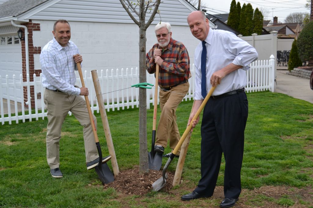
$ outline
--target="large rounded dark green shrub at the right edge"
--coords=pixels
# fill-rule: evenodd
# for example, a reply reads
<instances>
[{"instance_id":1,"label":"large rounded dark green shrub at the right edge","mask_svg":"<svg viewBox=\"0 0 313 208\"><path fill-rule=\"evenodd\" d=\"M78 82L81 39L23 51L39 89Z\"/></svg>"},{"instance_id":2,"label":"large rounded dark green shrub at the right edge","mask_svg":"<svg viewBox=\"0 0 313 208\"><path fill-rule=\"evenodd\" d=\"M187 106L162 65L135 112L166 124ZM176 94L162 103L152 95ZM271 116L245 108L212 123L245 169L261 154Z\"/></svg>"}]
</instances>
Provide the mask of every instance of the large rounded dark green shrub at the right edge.
<instances>
[{"instance_id":1,"label":"large rounded dark green shrub at the right edge","mask_svg":"<svg viewBox=\"0 0 313 208\"><path fill-rule=\"evenodd\" d=\"M313 65L313 21L307 23L300 32L297 47L300 58L303 61L309 61L309 65Z\"/></svg>"}]
</instances>

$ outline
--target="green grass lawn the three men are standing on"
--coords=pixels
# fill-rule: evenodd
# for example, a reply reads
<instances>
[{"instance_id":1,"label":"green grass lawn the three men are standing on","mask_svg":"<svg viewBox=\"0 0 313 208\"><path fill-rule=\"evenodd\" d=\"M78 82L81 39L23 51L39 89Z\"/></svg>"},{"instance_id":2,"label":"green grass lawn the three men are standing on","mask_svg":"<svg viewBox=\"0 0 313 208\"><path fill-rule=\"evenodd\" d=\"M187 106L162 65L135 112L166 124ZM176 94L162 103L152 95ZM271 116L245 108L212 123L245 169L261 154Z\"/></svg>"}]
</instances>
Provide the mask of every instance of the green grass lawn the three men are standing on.
<instances>
[{"instance_id":1,"label":"green grass lawn the three men are standing on","mask_svg":"<svg viewBox=\"0 0 313 208\"><path fill-rule=\"evenodd\" d=\"M249 117L245 131L244 161L241 171L242 206L313 207L313 104L284 94L247 93ZM192 101L177 109L181 134L186 128ZM151 148L153 107L147 111L148 151ZM158 108L160 115L160 108ZM98 136L103 155L108 155L105 134L98 120ZM120 171L139 164L138 109L107 112ZM60 141L61 179L49 173L46 161L47 119L0 126L0 207L202 207L217 206L216 198L183 202L179 196L197 186L200 179L200 124L192 133L183 183L174 188L177 196L166 192L146 196L120 196L114 189L103 189L95 171L85 165L82 127L68 116ZM166 153L170 148L166 148ZM167 159L163 159L163 165ZM110 162L108 162L110 166ZM175 171L177 159L167 169ZM110 166L111 167L111 166ZM223 186L222 160L217 186ZM88 186L91 184L91 186ZM253 190L280 187L279 197ZM295 195L303 190L309 197ZM254 197L251 197L251 193ZM297 193L300 193L298 191ZM239 202L240 202L239 198Z\"/></svg>"}]
</instances>

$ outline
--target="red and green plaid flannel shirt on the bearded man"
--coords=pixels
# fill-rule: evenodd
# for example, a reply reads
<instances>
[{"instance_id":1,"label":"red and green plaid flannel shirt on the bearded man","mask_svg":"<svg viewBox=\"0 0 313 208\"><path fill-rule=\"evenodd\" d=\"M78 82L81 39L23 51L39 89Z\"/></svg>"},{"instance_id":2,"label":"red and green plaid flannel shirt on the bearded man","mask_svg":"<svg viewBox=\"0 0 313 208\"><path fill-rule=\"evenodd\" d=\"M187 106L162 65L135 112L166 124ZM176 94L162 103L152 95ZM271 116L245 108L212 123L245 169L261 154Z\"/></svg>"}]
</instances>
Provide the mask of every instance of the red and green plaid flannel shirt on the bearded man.
<instances>
[{"instance_id":1,"label":"red and green plaid flannel shirt on the bearded man","mask_svg":"<svg viewBox=\"0 0 313 208\"><path fill-rule=\"evenodd\" d=\"M146 66L149 74L156 71L156 63L151 61L154 49L161 48L156 43L146 54ZM185 82L190 74L190 61L186 47L181 43L171 38L167 49L162 51L161 58L163 59L159 71L159 85L161 88L172 87L174 85Z\"/></svg>"}]
</instances>

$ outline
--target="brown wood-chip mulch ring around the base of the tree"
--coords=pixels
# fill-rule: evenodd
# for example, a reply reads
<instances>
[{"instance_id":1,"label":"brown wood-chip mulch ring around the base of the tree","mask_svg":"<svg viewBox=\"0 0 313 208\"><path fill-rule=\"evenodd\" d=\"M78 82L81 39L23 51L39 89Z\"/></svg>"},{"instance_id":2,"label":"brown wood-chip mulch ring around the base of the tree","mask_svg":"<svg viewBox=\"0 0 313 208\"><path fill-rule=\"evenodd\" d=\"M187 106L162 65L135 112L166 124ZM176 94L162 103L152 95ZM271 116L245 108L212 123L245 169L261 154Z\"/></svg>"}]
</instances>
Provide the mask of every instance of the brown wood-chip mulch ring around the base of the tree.
<instances>
[{"instance_id":1,"label":"brown wood-chip mulch ring around the base of the tree","mask_svg":"<svg viewBox=\"0 0 313 208\"><path fill-rule=\"evenodd\" d=\"M167 180L162 188L162 191L169 191L172 188L174 174L167 173ZM139 175L139 169L130 169L120 171L117 176L114 176L114 181L109 184L104 184L104 188L112 187L116 191L123 194L145 195L152 190L154 181L162 177L162 171L149 170L143 175Z\"/></svg>"}]
</instances>

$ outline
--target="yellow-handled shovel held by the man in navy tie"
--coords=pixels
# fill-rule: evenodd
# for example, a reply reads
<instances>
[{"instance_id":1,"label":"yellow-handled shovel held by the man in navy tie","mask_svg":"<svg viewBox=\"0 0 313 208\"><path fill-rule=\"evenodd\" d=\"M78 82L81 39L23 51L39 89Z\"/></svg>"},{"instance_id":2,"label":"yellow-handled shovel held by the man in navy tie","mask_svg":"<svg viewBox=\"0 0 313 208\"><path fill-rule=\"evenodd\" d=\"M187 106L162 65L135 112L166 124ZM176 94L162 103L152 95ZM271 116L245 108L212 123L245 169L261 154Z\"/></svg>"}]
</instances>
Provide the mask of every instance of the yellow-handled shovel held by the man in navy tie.
<instances>
[{"instance_id":1,"label":"yellow-handled shovel held by the man in navy tie","mask_svg":"<svg viewBox=\"0 0 313 208\"><path fill-rule=\"evenodd\" d=\"M180 148L180 146L182 146L182 143L184 142L185 138L187 137L187 135L189 134L190 130L192 129L192 123L194 120L197 120L197 118L199 117L202 109L204 108L204 106L206 105L206 103L208 102L208 99L211 97L213 91L215 90L215 87L212 87L209 91L209 93L207 94L207 96L204 98L201 106L199 107L198 111L196 112L196 114L193 116L189 126L187 126L185 132L183 133L182 137L180 138L180 140L178 141L175 149L173 150L173 152L171 153L170 157L168 158L163 171L162 171L162 177L159 178L158 180L154 181L154 183L152 184L152 191L159 191L160 189L163 188L163 186L166 183L166 179L167 179L167 174L166 174L166 170L167 167L171 164L172 160L174 159L178 149Z\"/></svg>"}]
</instances>

